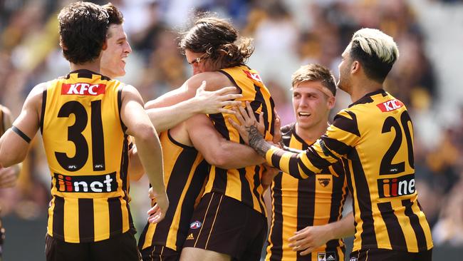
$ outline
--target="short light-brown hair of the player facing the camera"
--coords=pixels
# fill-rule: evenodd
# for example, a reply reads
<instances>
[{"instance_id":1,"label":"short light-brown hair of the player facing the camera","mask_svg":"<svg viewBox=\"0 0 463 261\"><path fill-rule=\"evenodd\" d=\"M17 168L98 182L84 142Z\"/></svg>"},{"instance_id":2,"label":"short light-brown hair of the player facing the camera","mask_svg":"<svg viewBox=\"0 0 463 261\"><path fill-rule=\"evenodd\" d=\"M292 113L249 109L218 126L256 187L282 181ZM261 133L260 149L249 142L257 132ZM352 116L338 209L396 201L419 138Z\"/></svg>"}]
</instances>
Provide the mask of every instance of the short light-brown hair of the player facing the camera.
<instances>
[{"instance_id":1,"label":"short light-brown hair of the player facing the camera","mask_svg":"<svg viewBox=\"0 0 463 261\"><path fill-rule=\"evenodd\" d=\"M320 81L323 86L333 93L333 96L336 95L336 83L333 73L328 68L316 63L309 63L298 68L291 76L291 81L293 88L306 81Z\"/></svg>"}]
</instances>

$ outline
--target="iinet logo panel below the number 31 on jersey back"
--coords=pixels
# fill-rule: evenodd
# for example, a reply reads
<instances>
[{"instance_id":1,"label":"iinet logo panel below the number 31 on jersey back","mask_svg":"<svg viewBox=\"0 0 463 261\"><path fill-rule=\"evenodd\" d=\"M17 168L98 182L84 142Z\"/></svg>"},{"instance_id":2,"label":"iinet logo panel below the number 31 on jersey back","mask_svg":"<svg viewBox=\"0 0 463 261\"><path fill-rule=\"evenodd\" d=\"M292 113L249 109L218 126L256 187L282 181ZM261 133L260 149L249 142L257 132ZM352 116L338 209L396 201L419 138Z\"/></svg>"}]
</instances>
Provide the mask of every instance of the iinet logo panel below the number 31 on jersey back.
<instances>
[{"instance_id":1,"label":"iinet logo panel below the number 31 on jersey back","mask_svg":"<svg viewBox=\"0 0 463 261\"><path fill-rule=\"evenodd\" d=\"M55 173L56 188L60 192L108 193L118 190L115 172L105 175L68 176Z\"/></svg>"}]
</instances>

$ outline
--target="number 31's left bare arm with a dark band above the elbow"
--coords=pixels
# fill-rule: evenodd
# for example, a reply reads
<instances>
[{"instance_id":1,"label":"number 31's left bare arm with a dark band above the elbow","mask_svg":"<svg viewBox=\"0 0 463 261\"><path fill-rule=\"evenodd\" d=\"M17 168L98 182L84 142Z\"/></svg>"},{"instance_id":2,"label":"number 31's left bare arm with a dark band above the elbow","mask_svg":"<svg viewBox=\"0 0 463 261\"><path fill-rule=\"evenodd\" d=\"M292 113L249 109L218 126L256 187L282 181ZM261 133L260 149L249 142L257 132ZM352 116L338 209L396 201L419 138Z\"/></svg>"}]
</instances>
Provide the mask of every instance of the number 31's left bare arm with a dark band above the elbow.
<instances>
[{"instance_id":1,"label":"number 31's left bare arm with a dark band above the elbow","mask_svg":"<svg viewBox=\"0 0 463 261\"><path fill-rule=\"evenodd\" d=\"M21 163L26 158L31 140L39 128L42 93L45 83L29 93L21 114L0 138L0 164L4 167Z\"/></svg>"}]
</instances>

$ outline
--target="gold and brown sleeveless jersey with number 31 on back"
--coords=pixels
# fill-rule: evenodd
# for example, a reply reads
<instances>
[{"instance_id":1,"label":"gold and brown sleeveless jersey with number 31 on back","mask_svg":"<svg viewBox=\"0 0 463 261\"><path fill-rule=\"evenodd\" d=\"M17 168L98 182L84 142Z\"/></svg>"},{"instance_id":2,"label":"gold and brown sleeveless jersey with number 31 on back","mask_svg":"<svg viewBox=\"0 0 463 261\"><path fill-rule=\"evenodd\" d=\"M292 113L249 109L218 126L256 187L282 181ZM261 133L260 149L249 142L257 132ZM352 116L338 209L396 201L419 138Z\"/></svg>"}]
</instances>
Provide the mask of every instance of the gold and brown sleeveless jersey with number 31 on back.
<instances>
[{"instance_id":1,"label":"gold and brown sleeveless jersey with number 31 on back","mask_svg":"<svg viewBox=\"0 0 463 261\"><path fill-rule=\"evenodd\" d=\"M96 242L128 230L128 140L123 83L87 70L47 83L41 132L51 174L48 235Z\"/></svg>"}]
</instances>

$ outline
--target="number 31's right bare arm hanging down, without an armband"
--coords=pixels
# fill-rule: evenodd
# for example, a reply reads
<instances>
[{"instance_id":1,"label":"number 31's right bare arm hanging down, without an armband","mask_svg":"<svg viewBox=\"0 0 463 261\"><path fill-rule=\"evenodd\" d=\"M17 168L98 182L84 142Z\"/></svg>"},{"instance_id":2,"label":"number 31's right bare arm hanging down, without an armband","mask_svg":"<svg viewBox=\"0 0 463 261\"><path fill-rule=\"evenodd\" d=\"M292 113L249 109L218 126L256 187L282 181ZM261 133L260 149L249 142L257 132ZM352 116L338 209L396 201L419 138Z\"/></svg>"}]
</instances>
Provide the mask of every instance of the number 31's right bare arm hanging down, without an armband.
<instances>
[{"instance_id":1,"label":"number 31's right bare arm hanging down, without an armband","mask_svg":"<svg viewBox=\"0 0 463 261\"><path fill-rule=\"evenodd\" d=\"M150 210L150 222L160 222L164 218L169 200L165 192L162 149L155 128L142 106L140 93L132 86L124 86L121 118L127 133L137 141L137 152L152 185L150 196L156 204Z\"/></svg>"}]
</instances>

